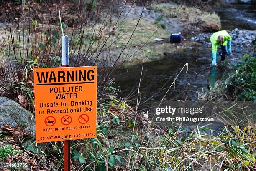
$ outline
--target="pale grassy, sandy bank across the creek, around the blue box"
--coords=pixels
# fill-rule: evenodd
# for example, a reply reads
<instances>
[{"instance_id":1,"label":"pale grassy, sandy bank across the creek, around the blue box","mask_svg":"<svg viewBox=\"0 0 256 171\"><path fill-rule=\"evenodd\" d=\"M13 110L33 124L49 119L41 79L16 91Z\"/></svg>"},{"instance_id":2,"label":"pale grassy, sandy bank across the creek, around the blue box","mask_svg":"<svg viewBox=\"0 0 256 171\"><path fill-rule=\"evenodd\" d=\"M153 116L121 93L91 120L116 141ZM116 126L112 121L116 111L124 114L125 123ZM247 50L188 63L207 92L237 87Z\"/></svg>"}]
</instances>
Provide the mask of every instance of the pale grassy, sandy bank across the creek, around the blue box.
<instances>
[{"instance_id":1,"label":"pale grassy, sandy bank across the creek, around the blue box","mask_svg":"<svg viewBox=\"0 0 256 171\"><path fill-rule=\"evenodd\" d=\"M109 53L113 61L109 63L110 67L117 59L117 65L122 65L122 68L129 68L143 61L161 60L165 57L163 52L174 54L192 46L200 46L199 43L189 40L191 33L220 29L218 15L200 8L155 2L147 7L122 4L120 8L123 9L121 18L125 19L125 22L115 30L114 36L119 40L110 52L100 54L101 60L96 62L98 66L102 66L101 62L105 61L105 56ZM179 32L182 33L182 42L171 44L170 35ZM154 38L163 40L157 42ZM123 50L126 43L126 49Z\"/></svg>"}]
</instances>

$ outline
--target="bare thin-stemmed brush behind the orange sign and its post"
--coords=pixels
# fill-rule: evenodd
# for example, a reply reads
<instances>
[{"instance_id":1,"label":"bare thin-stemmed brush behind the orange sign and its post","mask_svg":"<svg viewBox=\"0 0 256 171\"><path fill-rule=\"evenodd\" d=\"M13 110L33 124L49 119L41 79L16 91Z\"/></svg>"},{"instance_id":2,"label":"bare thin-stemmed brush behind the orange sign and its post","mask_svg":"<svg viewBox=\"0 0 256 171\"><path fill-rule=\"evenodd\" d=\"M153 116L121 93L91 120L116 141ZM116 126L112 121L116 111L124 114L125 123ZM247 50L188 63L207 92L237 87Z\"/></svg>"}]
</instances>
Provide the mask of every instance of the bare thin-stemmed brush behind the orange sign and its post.
<instances>
[{"instance_id":1,"label":"bare thin-stemmed brush behind the orange sign and its post","mask_svg":"<svg viewBox=\"0 0 256 171\"><path fill-rule=\"evenodd\" d=\"M24 3L25 2L25 3ZM104 91L110 74L131 40L140 21L128 32L115 36L124 23L128 4L121 1L1 1L0 17L0 91L16 101L25 97L22 105L33 112L33 67L61 66L61 11L64 34L69 36L71 66L98 65L99 90ZM132 3L131 3L132 5ZM122 46L116 48L118 40ZM120 42L119 42L120 43ZM111 53L115 53L115 57ZM121 59L122 56L122 59ZM100 92L99 92L100 93Z\"/></svg>"}]
</instances>

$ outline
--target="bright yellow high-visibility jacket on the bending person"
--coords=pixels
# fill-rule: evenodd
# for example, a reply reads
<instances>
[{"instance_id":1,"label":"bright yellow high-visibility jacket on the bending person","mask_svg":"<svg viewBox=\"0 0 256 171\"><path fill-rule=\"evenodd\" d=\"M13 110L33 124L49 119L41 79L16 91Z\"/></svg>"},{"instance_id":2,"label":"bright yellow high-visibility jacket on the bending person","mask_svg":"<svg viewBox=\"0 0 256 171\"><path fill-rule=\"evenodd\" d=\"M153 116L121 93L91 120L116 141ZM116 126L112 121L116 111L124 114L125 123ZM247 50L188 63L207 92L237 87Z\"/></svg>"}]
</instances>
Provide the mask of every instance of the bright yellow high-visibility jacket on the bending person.
<instances>
[{"instance_id":1,"label":"bright yellow high-visibility jacket on the bending person","mask_svg":"<svg viewBox=\"0 0 256 171\"><path fill-rule=\"evenodd\" d=\"M218 37L222 35L223 36L223 42L218 43ZM212 52L217 52L217 48L222 45L225 46L228 44L228 41L232 40L231 36L228 34L226 30L215 32L210 37L211 43L212 43Z\"/></svg>"}]
</instances>

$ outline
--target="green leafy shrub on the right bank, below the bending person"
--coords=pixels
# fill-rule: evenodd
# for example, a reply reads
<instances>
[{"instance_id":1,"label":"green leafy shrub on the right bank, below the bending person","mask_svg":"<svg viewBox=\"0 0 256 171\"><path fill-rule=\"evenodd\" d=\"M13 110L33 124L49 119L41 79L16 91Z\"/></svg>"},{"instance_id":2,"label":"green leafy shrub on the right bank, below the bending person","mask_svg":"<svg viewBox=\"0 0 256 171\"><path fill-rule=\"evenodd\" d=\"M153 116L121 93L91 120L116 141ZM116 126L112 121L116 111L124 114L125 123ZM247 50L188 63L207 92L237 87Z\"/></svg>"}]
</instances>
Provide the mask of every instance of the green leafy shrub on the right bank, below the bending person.
<instances>
[{"instance_id":1,"label":"green leafy shrub on the right bank, below the bending person","mask_svg":"<svg viewBox=\"0 0 256 171\"><path fill-rule=\"evenodd\" d=\"M256 102L256 53L244 57L233 64L233 72L217 80L208 91L200 91L198 100L238 100Z\"/></svg>"}]
</instances>

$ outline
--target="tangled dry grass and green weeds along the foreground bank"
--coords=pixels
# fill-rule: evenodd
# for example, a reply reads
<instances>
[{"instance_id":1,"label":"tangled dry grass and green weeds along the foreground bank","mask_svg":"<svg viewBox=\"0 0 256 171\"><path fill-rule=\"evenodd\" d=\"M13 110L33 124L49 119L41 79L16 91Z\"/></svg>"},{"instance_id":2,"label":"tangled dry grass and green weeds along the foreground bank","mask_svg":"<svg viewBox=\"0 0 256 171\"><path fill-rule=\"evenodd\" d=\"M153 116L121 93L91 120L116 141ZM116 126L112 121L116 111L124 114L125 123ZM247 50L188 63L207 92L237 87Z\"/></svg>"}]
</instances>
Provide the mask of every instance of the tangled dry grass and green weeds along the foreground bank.
<instances>
[{"instance_id":1,"label":"tangled dry grass and green weeds along the foreground bank","mask_svg":"<svg viewBox=\"0 0 256 171\"><path fill-rule=\"evenodd\" d=\"M256 168L256 130L250 119L244 125L226 125L218 135L204 126L192 129L173 126L163 130L150 123L148 113L135 116L131 106L113 95L112 99L105 98L97 108L97 138L72 142L72 157L78 155L85 159L73 158L73 170L219 171ZM232 111L229 112L232 116ZM244 116L249 116L249 113L244 113ZM63 147L58 146L57 142L36 146L31 141L31 148L36 150L30 151L29 155L45 158L52 163L51 168L61 170L63 163L59 161L63 159ZM46 162L36 158L35 165L38 168L47 166Z\"/></svg>"}]
</instances>

